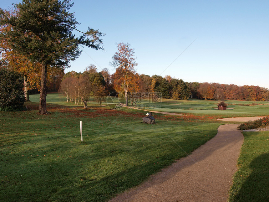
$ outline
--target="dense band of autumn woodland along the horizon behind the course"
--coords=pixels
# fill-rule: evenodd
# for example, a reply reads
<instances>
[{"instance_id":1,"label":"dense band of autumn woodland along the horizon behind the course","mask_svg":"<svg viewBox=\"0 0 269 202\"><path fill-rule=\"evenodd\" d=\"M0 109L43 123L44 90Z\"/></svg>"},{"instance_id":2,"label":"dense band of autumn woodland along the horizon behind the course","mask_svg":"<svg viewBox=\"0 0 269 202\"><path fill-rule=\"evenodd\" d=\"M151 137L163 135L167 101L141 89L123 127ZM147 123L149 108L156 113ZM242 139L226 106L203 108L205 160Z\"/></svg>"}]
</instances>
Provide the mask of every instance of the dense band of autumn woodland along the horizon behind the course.
<instances>
[{"instance_id":1,"label":"dense band of autumn woodland along the horizon behind the course","mask_svg":"<svg viewBox=\"0 0 269 202\"><path fill-rule=\"evenodd\" d=\"M83 91L88 85L89 96L102 95L118 91L123 92L122 83L118 81L118 72L110 74L109 70L98 72L94 65L90 65L81 72L67 72L62 79L62 83L51 83L53 86L60 86L59 91L63 92L67 101L82 102ZM82 78L87 75L89 80ZM129 84L129 93L132 92L159 92L162 98L187 100L189 98L215 99L215 100L246 100L246 101L268 101L269 91L254 85L237 86L234 84L219 83L198 83L185 82L182 79L172 78L170 75L162 77L160 75L134 74L133 83ZM80 89L80 90L79 90ZM100 93L101 90L101 93Z\"/></svg>"}]
</instances>

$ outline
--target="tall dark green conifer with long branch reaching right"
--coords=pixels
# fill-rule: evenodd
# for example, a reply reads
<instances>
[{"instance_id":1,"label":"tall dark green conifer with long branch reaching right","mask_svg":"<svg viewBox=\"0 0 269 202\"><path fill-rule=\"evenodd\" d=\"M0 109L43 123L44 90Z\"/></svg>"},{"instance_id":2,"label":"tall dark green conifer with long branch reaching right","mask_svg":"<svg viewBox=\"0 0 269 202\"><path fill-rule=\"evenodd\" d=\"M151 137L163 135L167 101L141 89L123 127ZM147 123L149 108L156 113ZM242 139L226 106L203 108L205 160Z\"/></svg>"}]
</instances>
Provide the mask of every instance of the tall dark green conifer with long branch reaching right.
<instances>
[{"instance_id":1,"label":"tall dark green conifer with long branch reaching right","mask_svg":"<svg viewBox=\"0 0 269 202\"><path fill-rule=\"evenodd\" d=\"M47 114L47 66L64 68L70 60L79 57L80 44L103 49L100 39L103 34L91 28L87 32L76 29L79 22L74 13L69 13L73 6L70 0L23 0L13 5L15 16L0 9L0 25L12 27L2 37L14 51L41 64L39 113ZM75 37L74 30L82 35Z\"/></svg>"}]
</instances>

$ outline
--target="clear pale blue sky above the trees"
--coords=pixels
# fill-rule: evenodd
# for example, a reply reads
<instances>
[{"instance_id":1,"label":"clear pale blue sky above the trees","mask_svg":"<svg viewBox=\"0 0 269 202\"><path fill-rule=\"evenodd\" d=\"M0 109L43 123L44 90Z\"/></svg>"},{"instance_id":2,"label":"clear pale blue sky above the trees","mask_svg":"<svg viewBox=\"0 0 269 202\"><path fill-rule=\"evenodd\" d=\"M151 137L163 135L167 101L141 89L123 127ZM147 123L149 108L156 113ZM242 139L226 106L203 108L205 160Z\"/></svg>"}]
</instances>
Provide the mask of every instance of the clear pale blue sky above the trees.
<instances>
[{"instance_id":1,"label":"clear pale blue sky above the trees","mask_svg":"<svg viewBox=\"0 0 269 202\"><path fill-rule=\"evenodd\" d=\"M11 3L1 0L0 7ZM94 64L114 73L109 62L123 42L134 49L139 74L269 88L268 11L267 0L75 0L77 28L105 33L105 51L83 48L65 72Z\"/></svg>"}]
</instances>

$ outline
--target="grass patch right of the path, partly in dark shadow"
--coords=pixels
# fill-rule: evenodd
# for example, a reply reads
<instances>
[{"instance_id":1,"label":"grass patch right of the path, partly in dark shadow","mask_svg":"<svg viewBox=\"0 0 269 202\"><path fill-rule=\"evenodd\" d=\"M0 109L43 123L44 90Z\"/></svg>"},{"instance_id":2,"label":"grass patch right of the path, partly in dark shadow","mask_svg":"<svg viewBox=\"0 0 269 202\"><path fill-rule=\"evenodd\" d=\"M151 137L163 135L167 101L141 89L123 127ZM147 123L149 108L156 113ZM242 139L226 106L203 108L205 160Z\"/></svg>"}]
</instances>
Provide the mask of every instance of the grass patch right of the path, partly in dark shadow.
<instances>
[{"instance_id":1,"label":"grass patch right of the path, partly in dark shadow","mask_svg":"<svg viewBox=\"0 0 269 202\"><path fill-rule=\"evenodd\" d=\"M269 201L269 132L243 132L245 137L229 202Z\"/></svg>"}]
</instances>

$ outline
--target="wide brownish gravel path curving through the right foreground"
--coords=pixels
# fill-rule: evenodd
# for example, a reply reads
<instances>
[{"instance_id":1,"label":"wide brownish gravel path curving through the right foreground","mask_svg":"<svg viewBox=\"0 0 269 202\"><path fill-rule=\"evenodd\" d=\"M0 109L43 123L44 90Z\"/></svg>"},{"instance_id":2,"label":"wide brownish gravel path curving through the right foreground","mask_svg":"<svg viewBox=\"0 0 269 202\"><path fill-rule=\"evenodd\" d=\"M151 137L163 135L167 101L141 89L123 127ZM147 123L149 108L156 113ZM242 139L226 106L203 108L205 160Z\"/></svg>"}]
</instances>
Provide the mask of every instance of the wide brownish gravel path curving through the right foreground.
<instances>
[{"instance_id":1,"label":"wide brownish gravel path curving through the right foreground","mask_svg":"<svg viewBox=\"0 0 269 202\"><path fill-rule=\"evenodd\" d=\"M227 201L244 140L237 126L221 125L215 137L189 156L177 160L110 202Z\"/></svg>"}]
</instances>

